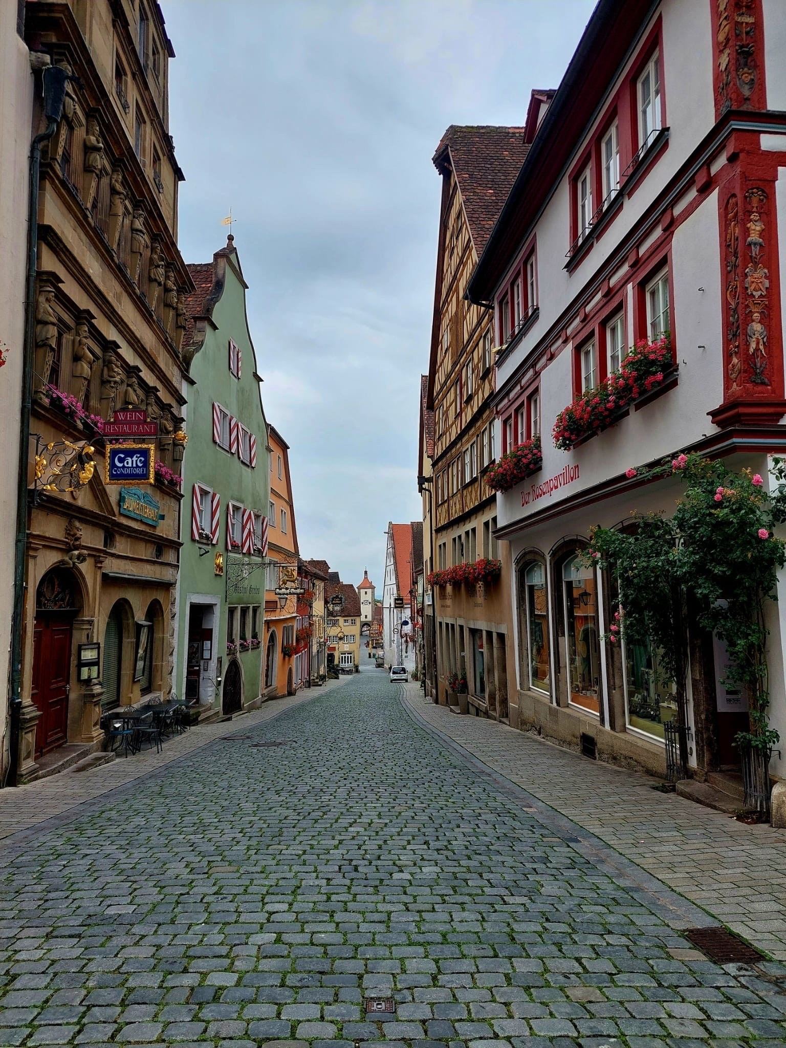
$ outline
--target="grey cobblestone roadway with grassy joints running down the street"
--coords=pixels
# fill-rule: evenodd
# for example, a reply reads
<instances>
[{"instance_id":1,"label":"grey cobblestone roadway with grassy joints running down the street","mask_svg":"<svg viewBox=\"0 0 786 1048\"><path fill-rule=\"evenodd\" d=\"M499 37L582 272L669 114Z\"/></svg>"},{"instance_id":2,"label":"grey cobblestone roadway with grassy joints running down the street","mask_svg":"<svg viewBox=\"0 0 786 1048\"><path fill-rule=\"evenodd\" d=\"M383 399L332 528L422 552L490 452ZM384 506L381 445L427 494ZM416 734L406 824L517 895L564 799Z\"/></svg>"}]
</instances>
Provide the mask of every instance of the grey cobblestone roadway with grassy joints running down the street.
<instances>
[{"instance_id":1,"label":"grey cobblestone roadway with grassy joints running down the street","mask_svg":"<svg viewBox=\"0 0 786 1048\"><path fill-rule=\"evenodd\" d=\"M704 959L705 914L398 691L367 671L8 837L0 1045L786 1045L786 967Z\"/></svg>"}]
</instances>

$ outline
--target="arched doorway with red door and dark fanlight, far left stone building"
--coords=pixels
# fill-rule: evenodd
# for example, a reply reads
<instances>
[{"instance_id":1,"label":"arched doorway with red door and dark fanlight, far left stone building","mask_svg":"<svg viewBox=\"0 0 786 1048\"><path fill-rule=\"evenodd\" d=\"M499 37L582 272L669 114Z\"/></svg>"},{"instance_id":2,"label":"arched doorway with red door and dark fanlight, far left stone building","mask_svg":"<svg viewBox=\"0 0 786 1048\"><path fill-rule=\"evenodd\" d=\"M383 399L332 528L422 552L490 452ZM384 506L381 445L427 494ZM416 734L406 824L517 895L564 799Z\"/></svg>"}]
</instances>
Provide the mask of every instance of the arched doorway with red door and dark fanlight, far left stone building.
<instances>
[{"instance_id":1,"label":"arched doorway with red door and dark fanlight, far left stone building","mask_svg":"<svg viewBox=\"0 0 786 1048\"><path fill-rule=\"evenodd\" d=\"M68 739L71 634L81 599L73 574L47 571L36 590L30 698L41 711L36 725L36 757Z\"/></svg>"}]
</instances>

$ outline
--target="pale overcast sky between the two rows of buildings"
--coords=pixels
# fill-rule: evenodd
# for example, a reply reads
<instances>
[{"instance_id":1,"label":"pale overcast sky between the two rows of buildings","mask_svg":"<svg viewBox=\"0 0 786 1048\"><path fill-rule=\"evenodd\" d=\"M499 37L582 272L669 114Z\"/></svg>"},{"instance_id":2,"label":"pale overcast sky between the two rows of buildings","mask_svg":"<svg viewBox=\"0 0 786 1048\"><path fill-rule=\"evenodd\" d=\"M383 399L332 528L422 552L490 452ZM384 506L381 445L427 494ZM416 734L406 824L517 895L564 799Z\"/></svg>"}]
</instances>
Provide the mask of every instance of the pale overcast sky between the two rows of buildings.
<instances>
[{"instance_id":1,"label":"pale overcast sky between the two rows of buildings","mask_svg":"<svg viewBox=\"0 0 786 1048\"><path fill-rule=\"evenodd\" d=\"M301 553L381 595L388 521L420 519L439 177L451 124L523 124L594 0L162 0L177 58L180 248L237 219L268 421Z\"/></svg>"}]
</instances>

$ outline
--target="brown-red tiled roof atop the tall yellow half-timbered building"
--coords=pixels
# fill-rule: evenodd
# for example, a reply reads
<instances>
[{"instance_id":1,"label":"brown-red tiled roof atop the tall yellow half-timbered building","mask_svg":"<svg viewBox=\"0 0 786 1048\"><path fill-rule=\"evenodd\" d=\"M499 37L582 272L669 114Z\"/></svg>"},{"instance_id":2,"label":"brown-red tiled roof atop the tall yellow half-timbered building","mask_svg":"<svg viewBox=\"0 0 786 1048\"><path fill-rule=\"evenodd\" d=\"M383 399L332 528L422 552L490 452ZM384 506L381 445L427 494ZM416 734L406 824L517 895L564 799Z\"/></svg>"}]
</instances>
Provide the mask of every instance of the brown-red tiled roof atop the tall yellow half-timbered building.
<instances>
[{"instance_id":1,"label":"brown-red tiled roof atop the tall yellow half-timbered building","mask_svg":"<svg viewBox=\"0 0 786 1048\"><path fill-rule=\"evenodd\" d=\"M434 165L439 172L453 168L478 258L528 150L523 127L459 127L452 124L442 135L434 154Z\"/></svg>"}]
</instances>

